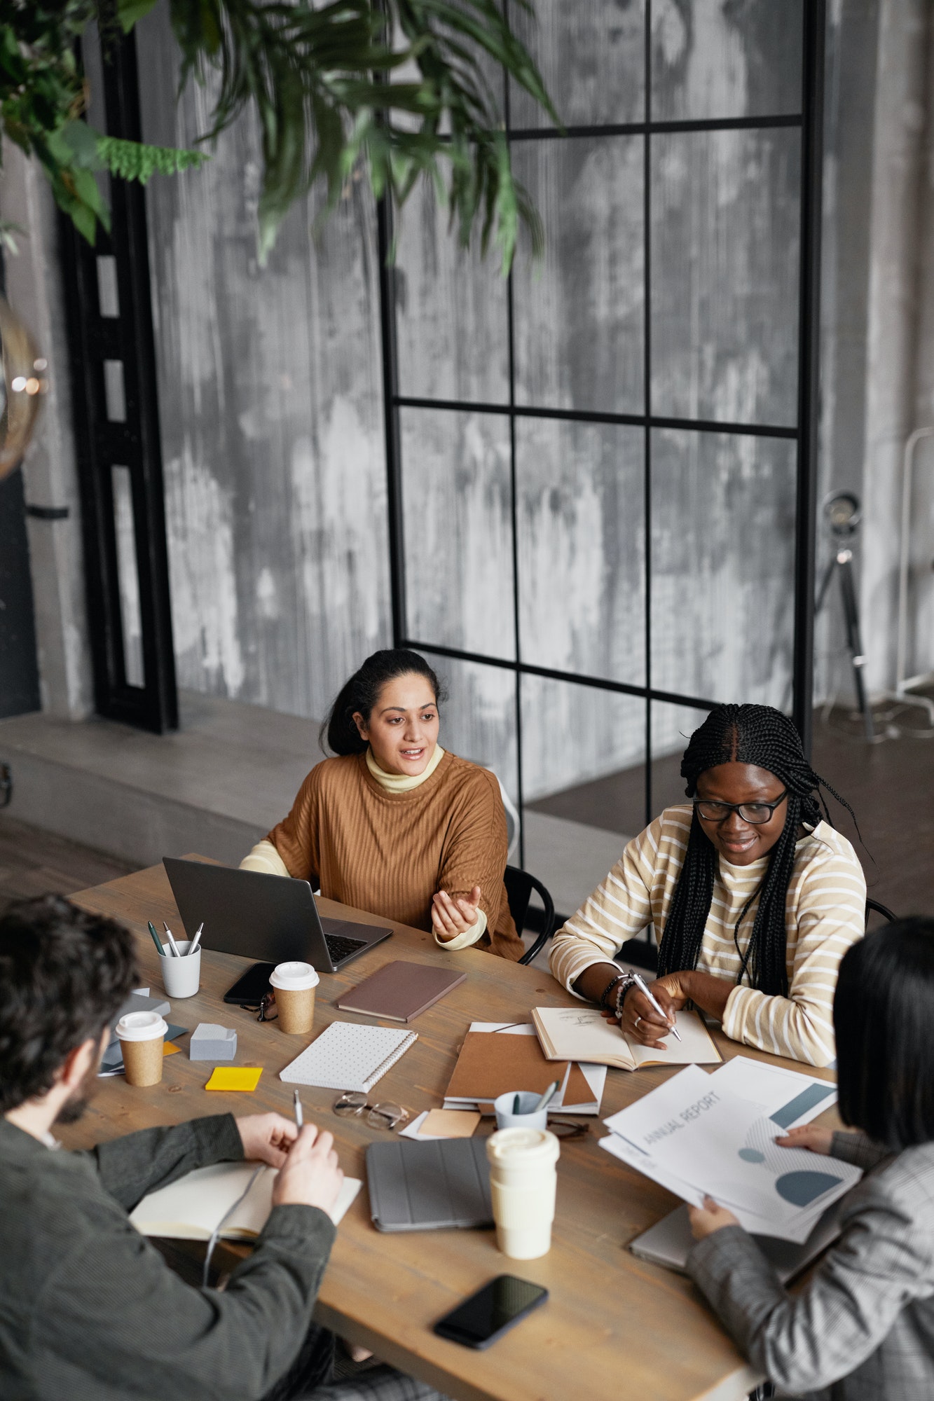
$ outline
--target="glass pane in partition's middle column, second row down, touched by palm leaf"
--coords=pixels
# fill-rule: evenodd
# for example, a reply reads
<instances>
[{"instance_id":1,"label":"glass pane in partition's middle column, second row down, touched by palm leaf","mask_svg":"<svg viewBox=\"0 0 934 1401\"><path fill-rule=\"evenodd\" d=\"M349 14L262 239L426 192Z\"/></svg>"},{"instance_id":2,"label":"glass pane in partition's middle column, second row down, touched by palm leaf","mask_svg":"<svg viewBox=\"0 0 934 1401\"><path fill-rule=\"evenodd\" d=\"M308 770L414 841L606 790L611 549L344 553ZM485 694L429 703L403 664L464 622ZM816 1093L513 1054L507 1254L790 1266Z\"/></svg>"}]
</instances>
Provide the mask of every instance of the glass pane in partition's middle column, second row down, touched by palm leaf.
<instances>
[{"instance_id":1,"label":"glass pane in partition's middle column, second row down, touched by palm leaf","mask_svg":"<svg viewBox=\"0 0 934 1401\"><path fill-rule=\"evenodd\" d=\"M547 234L543 265L516 262L516 401L641 413L642 137L512 151Z\"/></svg>"}]
</instances>

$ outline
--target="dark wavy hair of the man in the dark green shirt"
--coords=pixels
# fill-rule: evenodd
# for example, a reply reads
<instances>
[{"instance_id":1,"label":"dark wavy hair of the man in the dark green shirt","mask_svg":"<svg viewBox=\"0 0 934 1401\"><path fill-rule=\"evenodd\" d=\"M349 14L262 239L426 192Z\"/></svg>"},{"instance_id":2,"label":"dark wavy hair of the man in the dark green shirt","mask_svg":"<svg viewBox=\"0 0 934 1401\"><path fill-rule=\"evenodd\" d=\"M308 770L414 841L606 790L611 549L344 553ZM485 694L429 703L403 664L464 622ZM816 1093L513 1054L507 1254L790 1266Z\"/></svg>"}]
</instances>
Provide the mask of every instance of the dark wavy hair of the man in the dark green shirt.
<instances>
[{"instance_id":1,"label":"dark wavy hair of the man in the dark green shirt","mask_svg":"<svg viewBox=\"0 0 934 1401\"><path fill-rule=\"evenodd\" d=\"M0 919L0 1114L55 1083L88 1037L100 1038L136 984L133 936L60 895Z\"/></svg>"}]
</instances>

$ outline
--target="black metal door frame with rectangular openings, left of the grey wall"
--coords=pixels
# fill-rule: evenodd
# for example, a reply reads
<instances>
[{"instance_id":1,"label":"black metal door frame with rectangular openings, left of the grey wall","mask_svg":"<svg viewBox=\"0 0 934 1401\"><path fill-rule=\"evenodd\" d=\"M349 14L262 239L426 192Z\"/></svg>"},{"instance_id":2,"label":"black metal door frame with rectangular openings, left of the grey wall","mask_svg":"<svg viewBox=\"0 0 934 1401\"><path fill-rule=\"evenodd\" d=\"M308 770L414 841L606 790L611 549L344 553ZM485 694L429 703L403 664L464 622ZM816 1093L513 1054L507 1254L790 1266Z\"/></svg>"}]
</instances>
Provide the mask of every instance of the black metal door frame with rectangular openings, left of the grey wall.
<instances>
[{"instance_id":1,"label":"black metal door frame with rectangular openings, left of the grey wall","mask_svg":"<svg viewBox=\"0 0 934 1401\"><path fill-rule=\"evenodd\" d=\"M111 136L140 139L136 41L108 49L104 105ZM88 633L100 715L163 733L178 727L168 593L163 460L146 241L146 195L111 178L112 233L97 245L60 219ZM98 255L115 259L119 314L102 315ZM104 363L122 364L125 420L108 419ZM142 625L143 684L128 679L112 468L129 469Z\"/></svg>"}]
</instances>

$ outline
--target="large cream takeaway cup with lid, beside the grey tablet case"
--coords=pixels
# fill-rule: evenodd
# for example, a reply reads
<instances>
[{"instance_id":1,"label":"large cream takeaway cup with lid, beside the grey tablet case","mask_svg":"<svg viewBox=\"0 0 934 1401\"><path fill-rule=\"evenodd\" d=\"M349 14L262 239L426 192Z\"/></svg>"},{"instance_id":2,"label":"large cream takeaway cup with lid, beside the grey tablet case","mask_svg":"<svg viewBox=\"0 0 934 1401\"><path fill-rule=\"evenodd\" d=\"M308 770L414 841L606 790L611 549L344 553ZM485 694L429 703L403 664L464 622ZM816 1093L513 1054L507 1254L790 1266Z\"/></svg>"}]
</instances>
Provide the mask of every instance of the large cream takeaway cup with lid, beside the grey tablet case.
<instances>
[{"instance_id":1,"label":"large cream takeaway cup with lid, beside the grey tablet case","mask_svg":"<svg viewBox=\"0 0 934 1401\"><path fill-rule=\"evenodd\" d=\"M487 1139L496 1244L510 1259L551 1250L560 1145L547 1129L498 1129Z\"/></svg>"}]
</instances>

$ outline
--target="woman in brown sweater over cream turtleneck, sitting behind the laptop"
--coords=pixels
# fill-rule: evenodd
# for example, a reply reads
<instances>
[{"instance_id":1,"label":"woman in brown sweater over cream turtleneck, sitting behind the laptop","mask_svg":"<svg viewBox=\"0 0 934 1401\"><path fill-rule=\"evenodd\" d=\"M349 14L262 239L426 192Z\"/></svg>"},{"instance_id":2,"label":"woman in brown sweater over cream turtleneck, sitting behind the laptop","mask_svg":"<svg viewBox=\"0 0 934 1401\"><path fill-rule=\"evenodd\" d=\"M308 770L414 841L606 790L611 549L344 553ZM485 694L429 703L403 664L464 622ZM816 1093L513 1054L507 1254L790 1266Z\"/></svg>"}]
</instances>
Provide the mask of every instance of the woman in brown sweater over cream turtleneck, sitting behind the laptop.
<instances>
[{"instance_id":1,"label":"woman in brown sweater over cream turtleneck, sitting behind the laptop","mask_svg":"<svg viewBox=\"0 0 934 1401\"><path fill-rule=\"evenodd\" d=\"M516 961L499 783L440 747L442 699L417 651L367 657L321 726L335 757L240 866L310 880L330 899L433 930L446 948Z\"/></svg>"}]
</instances>

